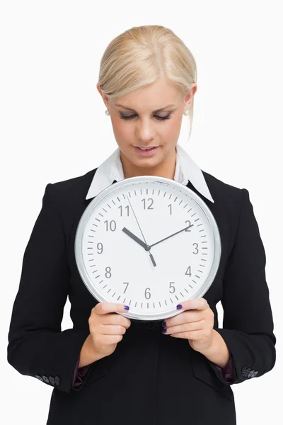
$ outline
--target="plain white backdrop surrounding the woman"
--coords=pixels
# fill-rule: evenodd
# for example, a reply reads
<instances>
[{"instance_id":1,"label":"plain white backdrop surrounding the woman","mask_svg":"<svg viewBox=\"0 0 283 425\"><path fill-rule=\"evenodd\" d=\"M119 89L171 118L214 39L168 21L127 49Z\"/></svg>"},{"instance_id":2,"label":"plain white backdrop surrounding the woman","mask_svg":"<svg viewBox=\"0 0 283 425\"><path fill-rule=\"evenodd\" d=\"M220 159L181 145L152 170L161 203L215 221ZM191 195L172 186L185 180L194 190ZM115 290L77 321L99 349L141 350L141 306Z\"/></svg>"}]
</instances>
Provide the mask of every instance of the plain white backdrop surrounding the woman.
<instances>
[{"instance_id":1,"label":"plain white backdrop surrounding the woman","mask_svg":"<svg viewBox=\"0 0 283 425\"><path fill-rule=\"evenodd\" d=\"M117 147L96 89L100 57L112 38L150 24L171 28L197 62L192 136L187 143L184 116L180 144L202 170L248 189L265 246L277 363L233 385L237 424L282 424L281 3L1 1L2 424L47 421L52 386L20 375L6 358L23 251L45 186L86 174ZM69 307L62 330L72 327Z\"/></svg>"}]
</instances>

